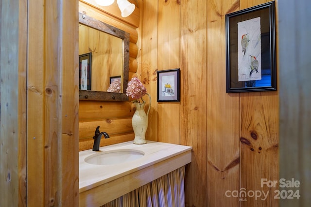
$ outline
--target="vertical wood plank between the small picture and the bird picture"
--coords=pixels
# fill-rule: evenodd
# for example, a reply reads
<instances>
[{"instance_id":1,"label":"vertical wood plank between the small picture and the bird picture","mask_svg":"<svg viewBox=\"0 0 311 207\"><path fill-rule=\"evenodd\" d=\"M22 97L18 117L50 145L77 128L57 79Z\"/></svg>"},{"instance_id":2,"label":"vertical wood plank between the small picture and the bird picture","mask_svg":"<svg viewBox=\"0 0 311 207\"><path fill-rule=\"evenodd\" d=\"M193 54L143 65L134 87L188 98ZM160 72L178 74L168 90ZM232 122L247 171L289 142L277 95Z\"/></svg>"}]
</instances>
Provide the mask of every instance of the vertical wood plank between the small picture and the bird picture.
<instances>
[{"instance_id":1,"label":"vertical wood plank between the small picture and the bird picture","mask_svg":"<svg viewBox=\"0 0 311 207\"><path fill-rule=\"evenodd\" d=\"M207 1L180 1L181 144L192 146L186 206L207 205Z\"/></svg>"}]
</instances>

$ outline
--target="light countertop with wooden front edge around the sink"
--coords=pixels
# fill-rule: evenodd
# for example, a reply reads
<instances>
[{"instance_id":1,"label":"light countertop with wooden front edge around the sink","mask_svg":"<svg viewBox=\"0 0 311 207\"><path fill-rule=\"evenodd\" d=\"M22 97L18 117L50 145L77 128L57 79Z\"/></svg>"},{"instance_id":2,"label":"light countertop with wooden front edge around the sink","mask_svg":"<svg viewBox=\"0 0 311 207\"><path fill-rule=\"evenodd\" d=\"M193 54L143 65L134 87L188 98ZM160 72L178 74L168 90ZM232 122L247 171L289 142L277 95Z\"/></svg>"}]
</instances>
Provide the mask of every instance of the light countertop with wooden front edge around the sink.
<instances>
[{"instance_id":1,"label":"light countertop with wooden front edge around the sink","mask_svg":"<svg viewBox=\"0 0 311 207\"><path fill-rule=\"evenodd\" d=\"M110 150L133 149L144 156L125 163L95 165L85 161L86 157ZM147 141L133 141L100 148L99 152L79 152L80 206L102 205L138 187L166 175L191 162L190 146ZM120 186L119 186L120 185ZM114 191L115 189L115 191ZM90 199L90 197L92 197ZM105 198L104 201L103 197Z\"/></svg>"}]
</instances>

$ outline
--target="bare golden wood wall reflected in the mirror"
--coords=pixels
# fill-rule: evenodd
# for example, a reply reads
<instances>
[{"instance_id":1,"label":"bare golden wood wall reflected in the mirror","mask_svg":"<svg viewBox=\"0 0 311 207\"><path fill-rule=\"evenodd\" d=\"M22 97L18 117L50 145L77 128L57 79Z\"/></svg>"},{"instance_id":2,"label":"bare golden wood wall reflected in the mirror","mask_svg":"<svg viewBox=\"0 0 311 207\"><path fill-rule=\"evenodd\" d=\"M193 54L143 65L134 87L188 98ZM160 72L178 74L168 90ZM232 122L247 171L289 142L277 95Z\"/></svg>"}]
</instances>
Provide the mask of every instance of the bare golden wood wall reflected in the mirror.
<instances>
[{"instance_id":1,"label":"bare golden wood wall reflected in the mirror","mask_svg":"<svg viewBox=\"0 0 311 207\"><path fill-rule=\"evenodd\" d=\"M107 91L110 78L122 76L122 42L121 38L79 25L79 55L92 53L91 90ZM121 92L122 90L121 88Z\"/></svg>"}]
</instances>

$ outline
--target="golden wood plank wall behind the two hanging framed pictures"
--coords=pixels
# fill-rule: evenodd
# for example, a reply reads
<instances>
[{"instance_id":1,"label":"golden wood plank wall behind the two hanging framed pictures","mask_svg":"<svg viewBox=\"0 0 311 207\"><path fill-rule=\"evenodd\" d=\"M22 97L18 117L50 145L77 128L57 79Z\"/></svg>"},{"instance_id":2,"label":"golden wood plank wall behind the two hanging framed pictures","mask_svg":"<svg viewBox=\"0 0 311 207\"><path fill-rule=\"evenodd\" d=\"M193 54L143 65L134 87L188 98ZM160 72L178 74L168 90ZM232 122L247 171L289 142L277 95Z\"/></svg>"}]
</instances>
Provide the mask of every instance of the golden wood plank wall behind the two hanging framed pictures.
<instances>
[{"instance_id":1,"label":"golden wood plank wall behind the two hanging framed pictures","mask_svg":"<svg viewBox=\"0 0 311 207\"><path fill-rule=\"evenodd\" d=\"M278 179L278 92L225 93L225 14L267 0L138 2L138 77L156 98L156 70L181 70L180 103L152 103L157 127L148 132L193 147L186 206L277 206L271 193L243 202L225 196L241 188L271 192L260 178Z\"/></svg>"}]
</instances>

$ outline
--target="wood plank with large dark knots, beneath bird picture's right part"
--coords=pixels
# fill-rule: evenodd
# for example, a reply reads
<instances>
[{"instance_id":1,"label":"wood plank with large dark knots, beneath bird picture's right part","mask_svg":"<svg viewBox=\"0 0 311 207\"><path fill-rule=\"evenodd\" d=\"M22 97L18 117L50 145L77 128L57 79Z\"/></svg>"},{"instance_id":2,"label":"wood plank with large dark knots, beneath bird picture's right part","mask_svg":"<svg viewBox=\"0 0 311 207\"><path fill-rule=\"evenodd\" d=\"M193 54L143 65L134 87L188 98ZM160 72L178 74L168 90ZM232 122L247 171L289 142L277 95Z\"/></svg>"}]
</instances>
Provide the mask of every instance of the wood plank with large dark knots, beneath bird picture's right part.
<instances>
[{"instance_id":1,"label":"wood plank with large dark knots, beneath bird picture's right part","mask_svg":"<svg viewBox=\"0 0 311 207\"><path fill-rule=\"evenodd\" d=\"M268 0L240 0L240 9ZM278 92L241 93L241 188L270 192L264 200L247 197L242 206L277 206L276 188L261 188L261 178L278 180ZM242 140L244 140L242 142ZM245 142L246 141L246 142ZM246 144L249 143L249 144Z\"/></svg>"}]
</instances>

